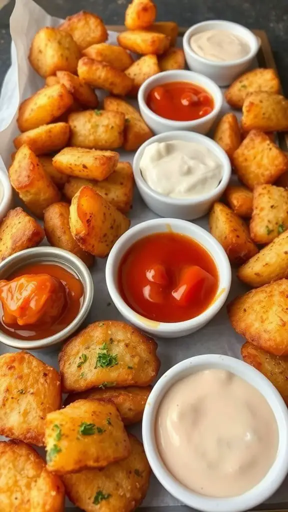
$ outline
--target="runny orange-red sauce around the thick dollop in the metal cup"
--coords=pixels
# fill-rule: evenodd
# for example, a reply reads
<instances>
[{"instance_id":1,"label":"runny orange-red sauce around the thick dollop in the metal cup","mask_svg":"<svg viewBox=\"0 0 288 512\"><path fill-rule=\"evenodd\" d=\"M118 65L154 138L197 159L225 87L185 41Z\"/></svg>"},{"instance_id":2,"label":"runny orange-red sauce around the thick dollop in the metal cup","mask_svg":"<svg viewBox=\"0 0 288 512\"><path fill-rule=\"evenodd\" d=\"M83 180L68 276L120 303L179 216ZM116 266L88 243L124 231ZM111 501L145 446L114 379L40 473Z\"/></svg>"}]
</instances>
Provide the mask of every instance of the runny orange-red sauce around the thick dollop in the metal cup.
<instances>
[{"instance_id":1,"label":"runny orange-red sauce around the thick dollop in the metal cup","mask_svg":"<svg viewBox=\"0 0 288 512\"><path fill-rule=\"evenodd\" d=\"M84 298L84 288L78 277L64 267L56 264L36 263L20 267L5 278L11 281L22 275L28 274L49 274L59 279L65 287L66 301L59 317L52 325L45 325L45 322L19 326L18 324L4 324L3 305L0 301L0 329L7 335L17 339L43 339L62 331L76 318Z\"/></svg>"}]
</instances>

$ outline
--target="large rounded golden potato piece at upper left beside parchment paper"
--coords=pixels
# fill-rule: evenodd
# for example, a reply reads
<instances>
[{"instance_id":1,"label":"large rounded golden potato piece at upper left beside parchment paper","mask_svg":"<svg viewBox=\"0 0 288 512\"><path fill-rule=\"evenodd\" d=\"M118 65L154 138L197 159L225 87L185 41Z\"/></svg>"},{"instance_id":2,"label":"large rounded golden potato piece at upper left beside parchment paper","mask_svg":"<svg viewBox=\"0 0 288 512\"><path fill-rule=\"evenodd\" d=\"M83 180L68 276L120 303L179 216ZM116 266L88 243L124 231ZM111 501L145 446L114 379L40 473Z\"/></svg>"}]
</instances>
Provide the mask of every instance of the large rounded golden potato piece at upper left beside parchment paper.
<instances>
[{"instance_id":1,"label":"large rounded golden potato piece at upper left beside parchment paper","mask_svg":"<svg viewBox=\"0 0 288 512\"><path fill-rule=\"evenodd\" d=\"M60 70L75 73L80 50L70 34L44 27L34 35L28 58L32 68L46 78Z\"/></svg>"}]
</instances>

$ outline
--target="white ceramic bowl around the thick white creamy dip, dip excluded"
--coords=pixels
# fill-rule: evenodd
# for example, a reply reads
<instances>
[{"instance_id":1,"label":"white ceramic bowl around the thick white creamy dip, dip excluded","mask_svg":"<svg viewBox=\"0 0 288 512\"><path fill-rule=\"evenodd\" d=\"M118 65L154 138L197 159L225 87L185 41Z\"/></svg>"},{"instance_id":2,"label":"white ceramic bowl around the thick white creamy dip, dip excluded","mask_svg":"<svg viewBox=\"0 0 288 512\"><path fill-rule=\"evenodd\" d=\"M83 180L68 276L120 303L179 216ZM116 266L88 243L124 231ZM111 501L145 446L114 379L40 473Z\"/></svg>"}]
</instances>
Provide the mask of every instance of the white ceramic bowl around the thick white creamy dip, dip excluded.
<instances>
[{"instance_id":1,"label":"white ceramic bowl around the thick white creamy dip, dip excluded","mask_svg":"<svg viewBox=\"0 0 288 512\"><path fill-rule=\"evenodd\" d=\"M140 171L140 161L145 148L154 142L167 142L169 140L184 140L202 144L219 158L223 166L222 179L212 192L191 199L176 199L159 194L146 183ZM133 173L140 195L147 206L155 211L157 215L193 220L206 215L213 203L222 196L231 177L231 163L222 148L214 140L204 135L194 132L167 132L152 137L139 147L133 160Z\"/></svg>"}]
</instances>

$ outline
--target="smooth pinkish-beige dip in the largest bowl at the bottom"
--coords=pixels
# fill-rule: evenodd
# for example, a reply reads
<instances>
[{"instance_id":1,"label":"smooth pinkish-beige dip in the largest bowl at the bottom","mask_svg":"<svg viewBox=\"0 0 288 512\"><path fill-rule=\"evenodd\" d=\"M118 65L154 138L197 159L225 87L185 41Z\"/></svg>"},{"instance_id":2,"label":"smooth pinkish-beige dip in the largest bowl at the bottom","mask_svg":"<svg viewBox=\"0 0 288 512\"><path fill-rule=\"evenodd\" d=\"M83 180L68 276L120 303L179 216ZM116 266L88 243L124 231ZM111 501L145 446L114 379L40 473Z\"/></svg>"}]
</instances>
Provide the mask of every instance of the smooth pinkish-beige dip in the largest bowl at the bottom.
<instances>
[{"instance_id":1,"label":"smooth pinkish-beige dip in the largest bowl at the bottom","mask_svg":"<svg viewBox=\"0 0 288 512\"><path fill-rule=\"evenodd\" d=\"M273 465L279 443L274 413L242 378L211 369L176 382L155 422L159 455L168 471L196 493L239 496Z\"/></svg>"}]
</instances>

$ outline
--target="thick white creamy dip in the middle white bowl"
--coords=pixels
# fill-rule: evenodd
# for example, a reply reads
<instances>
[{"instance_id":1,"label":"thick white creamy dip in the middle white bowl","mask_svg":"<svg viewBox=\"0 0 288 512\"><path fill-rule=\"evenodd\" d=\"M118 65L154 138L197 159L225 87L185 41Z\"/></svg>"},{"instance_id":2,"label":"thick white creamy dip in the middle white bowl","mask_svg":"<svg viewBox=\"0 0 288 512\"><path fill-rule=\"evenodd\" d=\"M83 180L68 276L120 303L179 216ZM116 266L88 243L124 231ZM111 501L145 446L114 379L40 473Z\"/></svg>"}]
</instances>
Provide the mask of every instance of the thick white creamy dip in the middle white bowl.
<instances>
[{"instance_id":1,"label":"thick white creamy dip in the middle white bowl","mask_svg":"<svg viewBox=\"0 0 288 512\"><path fill-rule=\"evenodd\" d=\"M140 160L140 171L146 183L159 194L190 199L215 190L223 166L208 147L171 140L147 146Z\"/></svg>"}]
</instances>

